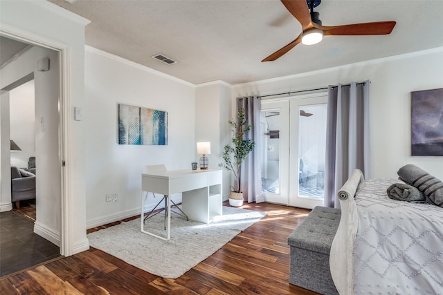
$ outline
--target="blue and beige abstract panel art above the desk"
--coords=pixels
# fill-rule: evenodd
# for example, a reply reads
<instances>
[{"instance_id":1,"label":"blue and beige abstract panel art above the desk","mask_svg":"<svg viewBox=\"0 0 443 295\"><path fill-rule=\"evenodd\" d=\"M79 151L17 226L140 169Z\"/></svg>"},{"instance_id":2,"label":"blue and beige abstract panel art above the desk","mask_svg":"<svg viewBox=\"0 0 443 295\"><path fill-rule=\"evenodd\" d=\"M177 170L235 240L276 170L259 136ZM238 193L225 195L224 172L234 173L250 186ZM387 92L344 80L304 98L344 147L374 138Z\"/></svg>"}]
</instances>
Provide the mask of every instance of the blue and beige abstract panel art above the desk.
<instances>
[{"instance_id":1,"label":"blue and beige abstract panel art above the desk","mask_svg":"<svg viewBox=\"0 0 443 295\"><path fill-rule=\"evenodd\" d=\"M118 144L168 145L168 112L118 104Z\"/></svg>"}]
</instances>

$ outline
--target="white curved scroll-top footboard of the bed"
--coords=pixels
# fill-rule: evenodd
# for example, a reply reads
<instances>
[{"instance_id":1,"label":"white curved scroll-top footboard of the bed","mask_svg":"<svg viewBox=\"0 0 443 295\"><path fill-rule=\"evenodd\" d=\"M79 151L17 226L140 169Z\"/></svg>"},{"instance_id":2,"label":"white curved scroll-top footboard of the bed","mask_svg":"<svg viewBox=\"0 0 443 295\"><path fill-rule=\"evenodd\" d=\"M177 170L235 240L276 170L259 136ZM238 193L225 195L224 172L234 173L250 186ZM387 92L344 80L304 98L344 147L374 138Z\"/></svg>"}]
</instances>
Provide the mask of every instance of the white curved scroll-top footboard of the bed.
<instances>
[{"instance_id":1,"label":"white curved scroll-top footboard of the bed","mask_svg":"<svg viewBox=\"0 0 443 295\"><path fill-rule=\"evenodd\" d=\"M337 233L332 241L329 265L332 280L340 295L354 294L354 243L358 226L358 216L354 196L359 183L364 180L359 169L338 191L341 206L341 218Z\"/></svg>"}]
</instances>

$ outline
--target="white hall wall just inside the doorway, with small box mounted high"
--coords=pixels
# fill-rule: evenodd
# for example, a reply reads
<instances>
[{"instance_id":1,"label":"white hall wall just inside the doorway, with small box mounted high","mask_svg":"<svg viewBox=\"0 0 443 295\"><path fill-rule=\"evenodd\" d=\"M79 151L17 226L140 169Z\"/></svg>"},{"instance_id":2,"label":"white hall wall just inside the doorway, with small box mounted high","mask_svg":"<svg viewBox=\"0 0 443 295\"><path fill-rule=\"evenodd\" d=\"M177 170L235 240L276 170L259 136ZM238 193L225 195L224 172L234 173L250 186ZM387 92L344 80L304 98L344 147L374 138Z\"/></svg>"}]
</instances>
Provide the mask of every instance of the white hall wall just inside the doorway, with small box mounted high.
<instances>
[{"instance_id":1,"label":"white hall wall just inside the doorway, with small box mounted high","mask_svg":"<svg viewBox=\"0 0 443 295\"><path fill-rule=\"evenodd\" d=\"M62 233L62 159L60 159L60 63L55 50L35 46L35 124L36 222L35 233L60 246ZM50 69L37 70L37 61L48 58Z\"/></svg>"}]
</instances>

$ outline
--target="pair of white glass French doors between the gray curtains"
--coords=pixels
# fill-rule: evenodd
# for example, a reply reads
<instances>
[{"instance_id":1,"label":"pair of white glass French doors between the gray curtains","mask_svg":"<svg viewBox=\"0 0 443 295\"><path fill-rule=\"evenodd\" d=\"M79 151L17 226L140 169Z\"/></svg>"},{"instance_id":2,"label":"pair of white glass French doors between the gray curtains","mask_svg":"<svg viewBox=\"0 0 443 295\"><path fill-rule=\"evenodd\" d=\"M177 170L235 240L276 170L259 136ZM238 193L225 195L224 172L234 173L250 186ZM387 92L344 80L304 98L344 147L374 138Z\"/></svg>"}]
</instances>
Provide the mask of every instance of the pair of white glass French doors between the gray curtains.
<instances>
[{"instance_id":1,"label":"pair of white glass French doors between the gray curtains","mask_svg":"<svg viewBox=\"0 0 443 295\"><path fill-rule=\"evenodd\" d=\"M262 101L262 187L266 202L324 204L327 93Z\"/></svg>"}]
</instances>

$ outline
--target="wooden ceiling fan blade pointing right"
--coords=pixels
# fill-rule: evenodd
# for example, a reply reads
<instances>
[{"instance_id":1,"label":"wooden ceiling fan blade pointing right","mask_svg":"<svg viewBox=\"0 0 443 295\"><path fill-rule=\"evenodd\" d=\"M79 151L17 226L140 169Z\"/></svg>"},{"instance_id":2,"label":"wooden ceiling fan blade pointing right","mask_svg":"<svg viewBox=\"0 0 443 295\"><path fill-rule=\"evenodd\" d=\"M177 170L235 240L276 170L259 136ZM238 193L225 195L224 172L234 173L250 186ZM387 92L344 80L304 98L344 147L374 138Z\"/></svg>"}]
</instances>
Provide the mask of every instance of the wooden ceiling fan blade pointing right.
<instances>
[{"instance_id":1,"label":"wooden ceiling fan blade pointing right","mask_svg":"<svg viewBox=\"0 0 443 295\"><path fill-rule=\"evenodd\" d=\"M395 21L378 21L374 23L354 23L343 26L318 26L314 27L324 31L324 36L328 35L388 35L392 32Z\"/></svg>"}]
</instances>

